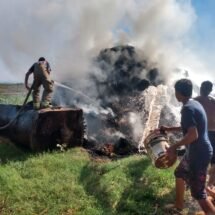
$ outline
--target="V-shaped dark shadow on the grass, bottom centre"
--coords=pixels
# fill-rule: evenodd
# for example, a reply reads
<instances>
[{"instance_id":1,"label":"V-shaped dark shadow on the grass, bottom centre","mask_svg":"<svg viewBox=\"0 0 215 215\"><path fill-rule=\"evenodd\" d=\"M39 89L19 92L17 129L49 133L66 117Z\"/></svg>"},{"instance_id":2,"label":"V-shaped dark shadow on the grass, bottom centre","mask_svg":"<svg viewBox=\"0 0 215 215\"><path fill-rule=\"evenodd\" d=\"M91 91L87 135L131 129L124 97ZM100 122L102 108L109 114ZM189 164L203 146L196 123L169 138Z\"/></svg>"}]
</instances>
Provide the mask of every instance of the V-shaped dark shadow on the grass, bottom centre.
<instances>
[{"instance_id":1,"label":"V-shaped dark shadow on the grass, bottom centre","mask_svg":"<svg viewBox=\"0 0 215 215\"><path fill-rule=\"evenodd\" d=\"M108 173L108 171L113 170L113 168L108 168L107 171L107 168L98 168L96 165L89 164L82 169L80 182L84 185L86 192L97 199L97 203L103 209L103 214L142 214L137 203L143 202L143 198L147 198L148 202L153 203L155 198L151 196L152 190L149 187L147 192L144 192L142 182L140 181L144 170L150 162L147 159L141 159L138 161L132 160L129 163L123 166L123 172L126 171L126 175L132 182L132 185L126 187L127 185L122 182L123 193L121 194L121 198L117 200L115 206L113 206L113 200L111 200L111 194L108 191L110 190L108 189L110 185L105 186L104 182L103 184L101 183L101 177L105 173ZM122 171L122 169L119 171Z\"/></svg>"}]
</instances>

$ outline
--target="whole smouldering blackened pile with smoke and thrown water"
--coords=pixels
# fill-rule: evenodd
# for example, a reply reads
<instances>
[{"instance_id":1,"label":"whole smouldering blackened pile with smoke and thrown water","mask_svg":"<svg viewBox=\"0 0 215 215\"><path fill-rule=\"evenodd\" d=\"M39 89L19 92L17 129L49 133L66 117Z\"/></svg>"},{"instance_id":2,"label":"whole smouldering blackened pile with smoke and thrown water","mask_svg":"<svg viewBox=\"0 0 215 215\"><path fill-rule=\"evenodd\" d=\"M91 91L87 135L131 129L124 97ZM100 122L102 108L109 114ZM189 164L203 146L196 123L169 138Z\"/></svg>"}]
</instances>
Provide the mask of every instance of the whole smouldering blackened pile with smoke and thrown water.
<instances>
[{"instance_id":1,"label":"whole smouldering blackened pile with smoke and thrown water","mask_svg":"<svg viewBox=\"0 0 215 215\"><path fill-rule=\"evenodd\" d=\"M63 84L67 89L57 87L54 102L82 108L84 147L97 154L136 153L151 129L177 124L165 78L133 46L102 50L87 79Z\"/></svg>"}]
</instances>

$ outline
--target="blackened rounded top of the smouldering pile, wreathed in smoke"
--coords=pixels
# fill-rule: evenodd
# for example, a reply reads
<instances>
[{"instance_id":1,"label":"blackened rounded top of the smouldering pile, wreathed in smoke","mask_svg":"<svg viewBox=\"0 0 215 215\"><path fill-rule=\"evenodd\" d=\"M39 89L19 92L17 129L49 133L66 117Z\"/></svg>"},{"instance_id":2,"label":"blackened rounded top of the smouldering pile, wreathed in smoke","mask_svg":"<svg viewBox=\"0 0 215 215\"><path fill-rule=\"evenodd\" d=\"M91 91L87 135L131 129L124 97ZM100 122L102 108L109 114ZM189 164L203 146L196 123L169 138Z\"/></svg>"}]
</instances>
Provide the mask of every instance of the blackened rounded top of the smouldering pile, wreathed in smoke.
<instances>
[{"instance_id":1,"label":"blackened rounded top of the smouldering pile, wreathed in smoke","mask_svg":"<svg viewBox=\"0 0 215 215\"><path fill-rule=\"evenodd\" d=\"M90 75L96 84L99 98L141 92L150 85L164 83L157 68L151 68L133 46L117 46L104 49L95 62L100 74Z\"/></svg>"}]
</instances>

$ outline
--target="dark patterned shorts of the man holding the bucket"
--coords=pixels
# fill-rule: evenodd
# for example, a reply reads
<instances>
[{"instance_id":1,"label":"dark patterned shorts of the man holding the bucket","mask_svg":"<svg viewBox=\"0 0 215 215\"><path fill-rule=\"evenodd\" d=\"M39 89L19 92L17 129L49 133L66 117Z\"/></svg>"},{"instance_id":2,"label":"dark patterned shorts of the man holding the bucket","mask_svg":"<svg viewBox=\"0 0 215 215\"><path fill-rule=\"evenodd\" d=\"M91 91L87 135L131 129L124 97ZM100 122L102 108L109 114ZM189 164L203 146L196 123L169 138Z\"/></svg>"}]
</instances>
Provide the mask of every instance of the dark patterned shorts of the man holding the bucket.
<instances>
[{"instance_id":1,"label":"dark patterned shorts of the man holding the bucket","mask_svg":"<svg viewBox=\"0 0 215 215\"><path fill-rule=\"evenodd\" d=\"M184 156L175 170L175 177L182 178L190 187L191 195L196 200L206 199L205 190L207 166L194 170L190 168L189 160Z\"/></svg>"}]
</instances>

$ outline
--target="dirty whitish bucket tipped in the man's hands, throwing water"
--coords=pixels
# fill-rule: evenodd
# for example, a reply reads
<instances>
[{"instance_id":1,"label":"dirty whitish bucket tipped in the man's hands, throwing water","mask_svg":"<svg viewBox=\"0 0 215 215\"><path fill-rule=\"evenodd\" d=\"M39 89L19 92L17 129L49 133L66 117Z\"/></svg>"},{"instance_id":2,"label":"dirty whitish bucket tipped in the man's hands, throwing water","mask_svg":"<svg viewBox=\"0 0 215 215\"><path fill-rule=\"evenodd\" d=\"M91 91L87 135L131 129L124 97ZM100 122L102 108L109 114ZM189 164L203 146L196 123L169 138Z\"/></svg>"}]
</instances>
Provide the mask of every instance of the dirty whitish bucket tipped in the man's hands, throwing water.
<instances>
[{"instance_id":1,"label":"dirty whitish bucket tipped in the man's hands, throwing water","mask_svg":"<svg viewBox=\"0 0 215 215\"><path fill-rule=\"evenodd\" d=\"M166 149L169 147L169 139L166 134L161 132L150 133L144 145L147 155L151 158L152 163L159 169L166 169L171 167L177 160L177 155L168 156Z\"/></svg>"}]
</instances>

